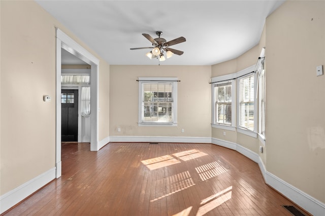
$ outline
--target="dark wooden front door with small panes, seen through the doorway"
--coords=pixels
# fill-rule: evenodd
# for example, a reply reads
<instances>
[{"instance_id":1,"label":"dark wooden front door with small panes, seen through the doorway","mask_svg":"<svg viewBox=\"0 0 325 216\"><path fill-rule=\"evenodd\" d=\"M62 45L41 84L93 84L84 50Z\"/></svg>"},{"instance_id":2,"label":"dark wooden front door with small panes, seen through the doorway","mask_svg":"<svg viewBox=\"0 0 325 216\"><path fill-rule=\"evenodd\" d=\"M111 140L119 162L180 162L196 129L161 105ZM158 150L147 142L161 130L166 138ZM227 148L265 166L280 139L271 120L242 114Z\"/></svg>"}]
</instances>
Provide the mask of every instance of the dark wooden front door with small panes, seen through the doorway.
<instances>
[{"instance_id":1,"label":"dark wooden front door with small panes, seen through the doorway","mask_svg":"<svg viewBox=\"0 0 325 216\"><path fill-rule=\"evenodd\" d=\"M78 90L61 90L61 142L78 142Z\"/></svg>"}]
</instances>

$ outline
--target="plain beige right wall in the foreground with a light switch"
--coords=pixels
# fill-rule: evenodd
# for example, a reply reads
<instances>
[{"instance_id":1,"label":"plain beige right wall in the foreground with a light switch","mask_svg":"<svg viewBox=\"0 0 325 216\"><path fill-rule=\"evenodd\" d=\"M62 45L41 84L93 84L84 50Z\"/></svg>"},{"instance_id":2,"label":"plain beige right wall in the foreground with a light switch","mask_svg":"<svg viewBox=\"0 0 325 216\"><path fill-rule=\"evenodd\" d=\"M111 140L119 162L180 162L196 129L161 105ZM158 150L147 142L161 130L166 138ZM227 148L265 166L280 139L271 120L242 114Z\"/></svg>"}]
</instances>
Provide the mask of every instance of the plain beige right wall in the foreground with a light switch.
<instances>
[{"instance_id":1,"label":"plain beige right wall in the foreground with a light switch","mask_svg":"<svg viewBox=\"0 0 325 216\"><path fill-rule=\"evenodd\" d=\"M267 169L323 203L324 15L324 1L288 1L266 20Z\"/></svg>"}]
</instances>

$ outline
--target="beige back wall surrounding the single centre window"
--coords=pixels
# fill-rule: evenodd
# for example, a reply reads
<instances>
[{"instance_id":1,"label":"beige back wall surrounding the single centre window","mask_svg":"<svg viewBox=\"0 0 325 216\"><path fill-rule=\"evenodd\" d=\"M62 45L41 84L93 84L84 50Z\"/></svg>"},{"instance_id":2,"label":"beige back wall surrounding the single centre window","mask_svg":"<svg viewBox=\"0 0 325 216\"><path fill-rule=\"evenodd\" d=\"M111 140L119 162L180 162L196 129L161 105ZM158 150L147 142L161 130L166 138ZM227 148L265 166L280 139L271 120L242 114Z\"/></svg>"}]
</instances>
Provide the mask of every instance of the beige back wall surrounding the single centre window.
<instances>
[{"instance_id":1,"label":"beige back wall surrounding the single centre window","mask_svg":"<svg viewBox=\"0 0 325 216\"><path fill-rule=\"evenodd\" d=\"M178 126L138 126L138 77L178 77ZM211 66L110 66L110 136L211 137ZM121 132L117 132L117 128ZM181 129L184 128L184 133Z\"/></svg>"}]
</instances>

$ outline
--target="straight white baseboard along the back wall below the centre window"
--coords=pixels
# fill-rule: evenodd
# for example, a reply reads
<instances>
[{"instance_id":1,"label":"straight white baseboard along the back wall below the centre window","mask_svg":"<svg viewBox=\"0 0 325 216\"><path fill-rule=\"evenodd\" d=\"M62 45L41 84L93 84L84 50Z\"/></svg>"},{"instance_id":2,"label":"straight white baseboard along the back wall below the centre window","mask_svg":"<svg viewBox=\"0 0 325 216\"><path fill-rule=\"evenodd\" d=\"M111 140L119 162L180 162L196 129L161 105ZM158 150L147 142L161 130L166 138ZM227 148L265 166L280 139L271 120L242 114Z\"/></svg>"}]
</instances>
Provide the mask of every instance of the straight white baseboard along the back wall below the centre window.
<instances>
[{"instance_id":1,"label":"straight white baseboard along the back wall below the centre window","mask_svg":"<svg viewBox=\"0 0 325 216\"><path fill-rule=\"evenodd\" d=\"M211 143L211 137L132 137L113 136L110 142Z\"/></svg>"}]
</instances>

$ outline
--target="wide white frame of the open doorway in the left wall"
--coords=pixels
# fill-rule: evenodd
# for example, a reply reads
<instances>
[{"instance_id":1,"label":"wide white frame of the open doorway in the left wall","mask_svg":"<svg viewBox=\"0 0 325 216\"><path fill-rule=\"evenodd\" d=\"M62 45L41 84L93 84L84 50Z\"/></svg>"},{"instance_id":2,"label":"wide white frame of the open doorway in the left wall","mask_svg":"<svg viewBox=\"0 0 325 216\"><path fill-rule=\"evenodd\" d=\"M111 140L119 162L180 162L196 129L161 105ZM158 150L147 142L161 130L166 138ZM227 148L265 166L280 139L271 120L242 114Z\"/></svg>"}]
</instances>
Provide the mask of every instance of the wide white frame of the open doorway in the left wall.
<instances>
[{"instance_id":1,"label":"wide white frame of the open doorway in the left wall","mask_svg":"<svg viewBox=\"0 0 325 216\"><path fill-rule=\"evenodd\" d=\"M98 76L99 59L81 47L75 40L56 29L56 128L55 177L61 176L61 48L91 65L90 70L90 151L98 151Z\"/></svg>"}]
</instances>

